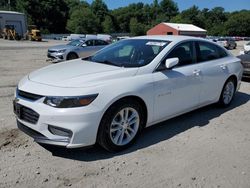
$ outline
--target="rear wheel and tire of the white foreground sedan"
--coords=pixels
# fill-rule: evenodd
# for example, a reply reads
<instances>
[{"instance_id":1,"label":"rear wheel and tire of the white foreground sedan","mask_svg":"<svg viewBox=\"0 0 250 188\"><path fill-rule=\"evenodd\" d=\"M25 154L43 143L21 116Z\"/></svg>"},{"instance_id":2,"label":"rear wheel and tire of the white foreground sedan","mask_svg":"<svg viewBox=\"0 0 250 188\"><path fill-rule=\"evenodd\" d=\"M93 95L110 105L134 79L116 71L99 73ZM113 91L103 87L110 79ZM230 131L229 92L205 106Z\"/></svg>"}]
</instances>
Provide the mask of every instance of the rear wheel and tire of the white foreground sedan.
<instances>
[{"instance_id":1,"label":"rear wheel and tire of the white foreground sedan","mask_svg":"<svg viewBox=\"0 0 250 188\"><path fill-rule=\"evenodd\" d=\"M224 84L223 89L221 91L219 99L219 105L221 107L228 107L231 104L234 98L235 90L236 90L235 80L233 78L229 78Z\"/></svg>"}]
</instances>

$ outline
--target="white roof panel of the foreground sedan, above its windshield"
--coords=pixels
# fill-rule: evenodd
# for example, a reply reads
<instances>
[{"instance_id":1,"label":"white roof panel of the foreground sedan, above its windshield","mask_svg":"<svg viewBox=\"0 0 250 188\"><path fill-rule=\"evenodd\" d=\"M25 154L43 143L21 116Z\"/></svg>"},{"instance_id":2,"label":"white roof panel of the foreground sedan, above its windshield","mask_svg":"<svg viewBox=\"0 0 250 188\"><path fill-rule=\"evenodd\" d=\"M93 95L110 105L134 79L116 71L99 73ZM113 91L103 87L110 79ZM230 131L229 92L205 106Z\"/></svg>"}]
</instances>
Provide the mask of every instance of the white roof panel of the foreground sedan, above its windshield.
<instances>
[{"instance_id":1,"label":"white roof panel of the foreground sedan, above its windshield","mask_svg":"<svg viewBox=\"0 0 250 188\"><path fill-rule=\"evenodd\" d=\"M151 40L166 40L166 41L183 41L183 40L205 40L204 38L191 37L191 36L180 36L180 35L147 35L147 36L139 36L133 37L133 39L151 39Z\"/></svg>"}]
</instances>

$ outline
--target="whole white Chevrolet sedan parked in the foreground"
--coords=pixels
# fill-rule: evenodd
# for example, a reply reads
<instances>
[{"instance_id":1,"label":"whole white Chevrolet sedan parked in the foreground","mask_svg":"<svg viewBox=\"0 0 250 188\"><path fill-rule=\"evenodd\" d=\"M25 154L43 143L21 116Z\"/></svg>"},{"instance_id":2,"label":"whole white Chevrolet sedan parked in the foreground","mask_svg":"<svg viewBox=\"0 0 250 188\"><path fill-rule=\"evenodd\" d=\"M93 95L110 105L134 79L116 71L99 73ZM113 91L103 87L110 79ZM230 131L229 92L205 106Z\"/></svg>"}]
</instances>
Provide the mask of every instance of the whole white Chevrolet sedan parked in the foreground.
<instances>
[{"instance_id":1,"label":"whole white Chevrolet sedan parked in the foreground","mask_svg":"<svg viewBox=\"0 0 250 188\"><path fill-rule=\"evenodd\" d=\"M14 112L36 142L120 151L144 127L208 104L230 105L241 76L240 59L216 43L135 37L25 76Z\"/></svg>"}]
</instances>

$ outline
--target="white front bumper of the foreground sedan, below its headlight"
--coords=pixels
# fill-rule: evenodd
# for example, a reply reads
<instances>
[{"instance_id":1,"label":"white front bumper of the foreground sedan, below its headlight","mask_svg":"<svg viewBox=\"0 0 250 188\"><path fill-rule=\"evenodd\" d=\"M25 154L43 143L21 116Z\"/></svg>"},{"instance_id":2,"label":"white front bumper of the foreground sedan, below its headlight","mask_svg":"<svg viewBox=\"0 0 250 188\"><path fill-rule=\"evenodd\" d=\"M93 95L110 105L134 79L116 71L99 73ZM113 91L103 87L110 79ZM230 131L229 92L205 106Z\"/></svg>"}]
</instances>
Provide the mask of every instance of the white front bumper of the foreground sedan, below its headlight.
<instances>
[{"instance_id":1,"label":"white front bumper of the foreground sedan, below its headlight","mask_svg":"<svg viewBox=\"0 0 250 188\"><path fill-rule=\"evenodd\" d=\"M43 144L67 148L95 144L102 116L99 108L90 104L79 108L59 109L44 104L43 100L44 97L37 101L29 101L17 96L15 101L18 105L39 114L37 122L27 121L27 118L23 118L22 115L16 115L17 126L21 131L34 138L34 141ZM52 132L50 127L69 130L72 134L69 136L58 135Z\"/></svg>"}]
</instances>

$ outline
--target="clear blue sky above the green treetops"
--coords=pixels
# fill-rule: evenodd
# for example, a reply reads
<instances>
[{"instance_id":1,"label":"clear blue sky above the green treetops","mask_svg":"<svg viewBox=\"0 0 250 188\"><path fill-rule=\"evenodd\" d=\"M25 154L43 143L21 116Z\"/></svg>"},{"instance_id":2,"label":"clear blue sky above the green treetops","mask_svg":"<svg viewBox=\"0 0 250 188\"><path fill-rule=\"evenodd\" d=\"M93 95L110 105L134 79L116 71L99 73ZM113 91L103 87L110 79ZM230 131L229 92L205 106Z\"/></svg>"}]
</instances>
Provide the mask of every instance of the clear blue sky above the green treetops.
<instances>
[{"instance_id":1,"label":"clear blue sky above the green treetops","mask_svg":"<svg viewBox=\"0 0 250 188\"><path fill-rule=\"evenodd\" d=\"M127 6L131 3L148 3L151 4L153 0L103 0L109 9L115 9L118 7ZM158 0L160 2L160 0ZM179 10L185 10L193 5L198 6L200 9L208 8L212 9L214 7L223 7L226 11L232 12L241 9L250 10L250 0L174 0L179 7ZM87 0L91 3L92 0Z\"/></svg>"}]
</instances>

